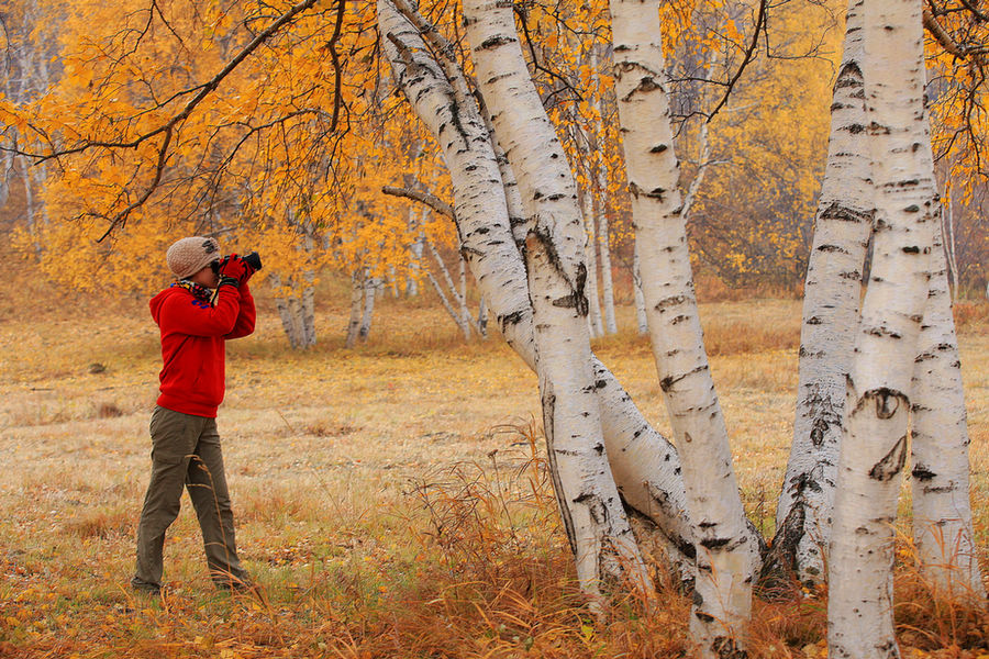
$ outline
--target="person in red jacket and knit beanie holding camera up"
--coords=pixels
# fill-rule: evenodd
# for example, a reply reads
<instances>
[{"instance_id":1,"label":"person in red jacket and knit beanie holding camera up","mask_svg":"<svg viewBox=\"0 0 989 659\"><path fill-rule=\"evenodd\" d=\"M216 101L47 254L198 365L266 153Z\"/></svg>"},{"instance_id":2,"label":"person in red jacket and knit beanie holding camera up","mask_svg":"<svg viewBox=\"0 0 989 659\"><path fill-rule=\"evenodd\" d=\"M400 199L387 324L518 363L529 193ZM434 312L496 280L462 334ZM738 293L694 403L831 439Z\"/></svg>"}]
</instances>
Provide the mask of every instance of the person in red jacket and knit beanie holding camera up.
<instances>
[{"instance_id":1,"label":"person in red jacket and knit beanie holding camera up","mask_svg":"<svg viewBox=\"0 0 989 659\"><path fill-rule=\"evenodd\" d=\"M191 237L173 244L166 260L177 281L151 301L164 367L151 420L152 476L131 585L160 592L165 530L178 516L185 485L199 517L210 577L219 588L245 589L252 583L237 558L216 409L225 387L225 342L254 332L247 280L260 269L260 259L254 253L221 259L214 238Z\"/></svg>"}]
</instances>

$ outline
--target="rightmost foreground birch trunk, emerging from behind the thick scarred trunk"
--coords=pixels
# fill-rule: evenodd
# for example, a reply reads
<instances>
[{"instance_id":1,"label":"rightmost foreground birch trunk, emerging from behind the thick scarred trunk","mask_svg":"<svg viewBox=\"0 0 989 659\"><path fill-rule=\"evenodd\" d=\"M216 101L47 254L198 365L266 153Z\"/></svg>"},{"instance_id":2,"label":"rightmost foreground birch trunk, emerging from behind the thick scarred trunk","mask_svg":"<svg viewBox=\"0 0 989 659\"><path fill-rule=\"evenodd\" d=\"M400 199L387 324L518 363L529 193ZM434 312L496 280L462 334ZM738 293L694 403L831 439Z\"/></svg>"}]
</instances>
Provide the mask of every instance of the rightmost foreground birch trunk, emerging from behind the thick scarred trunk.
<instances>
[{"instance_id":1,"label":"rightmost foreground birch trunk, emerging from behind the thick scarred trunk","mask_svg":"<svg viewBox=\"0 0 989 659\"><path fill-rule=\"evenodd\" d=\"M913 367L913 541L936 590L953 600L985 604L971 525L965 390L942 247L935 237L934 272Z\"/></svg>"}]
</instances>

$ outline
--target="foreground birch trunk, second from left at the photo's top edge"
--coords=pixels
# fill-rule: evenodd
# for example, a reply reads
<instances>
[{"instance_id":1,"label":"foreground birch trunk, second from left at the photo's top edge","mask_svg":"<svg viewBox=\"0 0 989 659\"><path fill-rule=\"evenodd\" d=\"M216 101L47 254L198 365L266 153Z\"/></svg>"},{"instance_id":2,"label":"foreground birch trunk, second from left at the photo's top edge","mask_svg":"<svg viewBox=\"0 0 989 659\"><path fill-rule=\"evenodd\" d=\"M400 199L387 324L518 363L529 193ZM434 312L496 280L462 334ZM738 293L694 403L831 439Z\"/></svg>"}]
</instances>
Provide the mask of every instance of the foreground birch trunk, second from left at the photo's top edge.
<instances>
[{"instance_id":1,"label":"foreground birch trunk, second from left at the photo's top edge","mask_svg":"<svg viewBox=\"0 0 989 659\"><path fill-rule=\"evenodd\" d=\"M525 255L543 418L556 495L581 587L629 579L652 592L608 463L585 294L586 232L577 186L540 101L511 5L466 0L464 24L478 83L519 186L530 231ZM551 439L552 436L552 439Z\"/></svg>"}]
</instances>

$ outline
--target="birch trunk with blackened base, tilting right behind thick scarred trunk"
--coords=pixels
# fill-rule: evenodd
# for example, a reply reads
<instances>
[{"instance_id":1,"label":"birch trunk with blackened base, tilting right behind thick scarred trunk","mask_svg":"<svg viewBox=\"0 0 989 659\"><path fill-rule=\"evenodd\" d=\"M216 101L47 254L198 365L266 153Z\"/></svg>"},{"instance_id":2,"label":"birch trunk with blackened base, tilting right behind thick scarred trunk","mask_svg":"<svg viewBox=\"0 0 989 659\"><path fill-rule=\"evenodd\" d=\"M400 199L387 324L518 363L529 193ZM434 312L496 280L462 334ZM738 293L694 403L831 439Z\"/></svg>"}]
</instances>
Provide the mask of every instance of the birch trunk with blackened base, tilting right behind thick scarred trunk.
<instances>
[{"instance_id":1,"label":"birch trunk with blackened base, tilting right behind thick scarred trunk","mask_svg":"<svg viewBox=\"0 0 989 659\"><path fill-rule=\"evenodd\" d=\"M807 268L793 443L764 576L823 583L862 269L873 221L873 182L862 78L862 2L852 0L831 104L827 166Z\"/></svg>"}]
</instances>

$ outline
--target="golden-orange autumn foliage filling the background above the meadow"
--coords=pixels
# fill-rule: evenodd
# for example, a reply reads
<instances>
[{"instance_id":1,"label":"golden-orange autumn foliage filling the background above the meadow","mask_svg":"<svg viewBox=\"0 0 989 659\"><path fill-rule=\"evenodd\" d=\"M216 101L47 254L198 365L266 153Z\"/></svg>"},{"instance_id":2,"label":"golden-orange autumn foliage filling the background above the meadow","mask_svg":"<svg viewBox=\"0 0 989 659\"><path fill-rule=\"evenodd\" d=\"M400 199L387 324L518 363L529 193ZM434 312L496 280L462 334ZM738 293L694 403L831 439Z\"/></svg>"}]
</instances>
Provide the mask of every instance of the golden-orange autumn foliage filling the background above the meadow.
<instances>
[{"instance_id":1,"label":"golden-orange autumn foliage filling the background above the meadow","mask_svg":"<svg viewBox=\"0 0 989 659\"><path fill-rule=\"evenodd\" d=\"M957 204L958 276L981 286L986 20L968 4L932 2L924 19L935 153ZM730 286L792 289L802 278L843 10L664 5L693 254ZM421 11L470 75L455 3ZM370 3L34 0L9 3L3 19L8 180L34 181L36 198L14 243L48 276L92 288L81 264L95 259L104 276L125 273L127 287L146 291L164 276L147 254L178 235L222 232L269 255L266 275L288 294L304 272L326 267L422 277L409 248L422 231L456 247L448 221L427 213L410 222L421 215L414 202L380 191L412 185L448 201L432 138L393 94ZM516 21L621 272L632 239L607 3L523 3ZM300 250L307 232L319 248ZM65 259L70 249L91 258Z\"/></svg>"}]
</instances>

